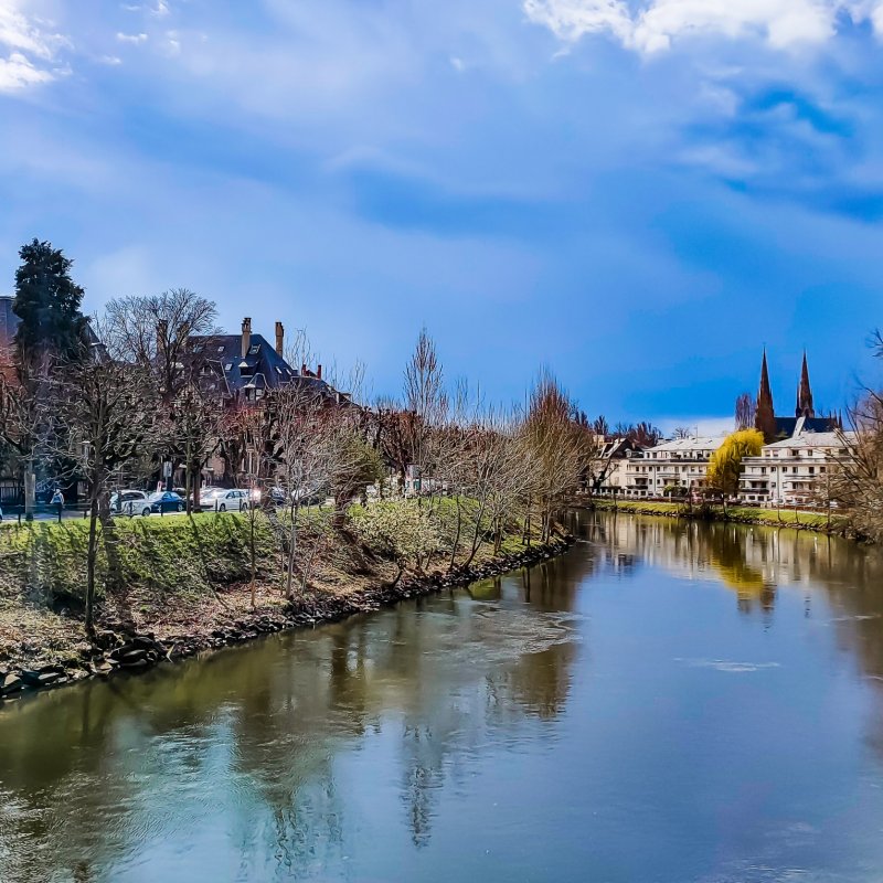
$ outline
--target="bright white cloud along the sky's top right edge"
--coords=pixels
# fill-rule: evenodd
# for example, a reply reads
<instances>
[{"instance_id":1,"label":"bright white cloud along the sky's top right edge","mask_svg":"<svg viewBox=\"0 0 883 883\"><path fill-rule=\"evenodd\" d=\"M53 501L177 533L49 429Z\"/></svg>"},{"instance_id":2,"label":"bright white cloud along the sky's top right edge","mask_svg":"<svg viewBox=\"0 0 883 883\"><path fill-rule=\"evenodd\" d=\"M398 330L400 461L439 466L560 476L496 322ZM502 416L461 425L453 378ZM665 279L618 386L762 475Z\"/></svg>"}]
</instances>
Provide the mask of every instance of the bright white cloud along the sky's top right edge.
<instances>
[{"instance_id":1,"label":"bright white cloud along the sky's top right edge","mask_svg":"<svg viewBox=\"0 0 883 883\"><path fill-rule=\"evenodd\" d=\"M843 17L883 33L883 0L524 0L523 9L565 43L608 33L643 54L702 35L754 36L774 49L820 44Z\"/></svg>"}]
</instances>

